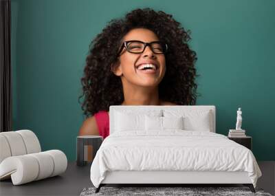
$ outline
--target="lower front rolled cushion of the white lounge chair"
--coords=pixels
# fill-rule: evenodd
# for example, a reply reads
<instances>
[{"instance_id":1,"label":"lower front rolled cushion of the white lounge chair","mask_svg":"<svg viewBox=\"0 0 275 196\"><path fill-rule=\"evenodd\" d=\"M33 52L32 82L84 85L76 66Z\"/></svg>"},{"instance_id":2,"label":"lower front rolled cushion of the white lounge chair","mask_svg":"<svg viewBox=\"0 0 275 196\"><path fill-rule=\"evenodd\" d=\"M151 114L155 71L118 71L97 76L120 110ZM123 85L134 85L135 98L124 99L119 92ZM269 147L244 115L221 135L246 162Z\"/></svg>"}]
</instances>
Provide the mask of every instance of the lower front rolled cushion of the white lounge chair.
<instances>
[{"instance_id":1,"label":"lower front rolled cushion of the white lounge chair","mask_svg":"<svg viewBox=\"0 0 275 196\"><path fill-rule=\"evenodd\" d=\"M12 178L14 185L59 175L66 171L67 157L62 151L51 150L41 153L5 158L0 164L0 179Z\"/></svg>"}]
</instances>

